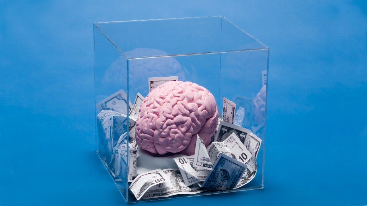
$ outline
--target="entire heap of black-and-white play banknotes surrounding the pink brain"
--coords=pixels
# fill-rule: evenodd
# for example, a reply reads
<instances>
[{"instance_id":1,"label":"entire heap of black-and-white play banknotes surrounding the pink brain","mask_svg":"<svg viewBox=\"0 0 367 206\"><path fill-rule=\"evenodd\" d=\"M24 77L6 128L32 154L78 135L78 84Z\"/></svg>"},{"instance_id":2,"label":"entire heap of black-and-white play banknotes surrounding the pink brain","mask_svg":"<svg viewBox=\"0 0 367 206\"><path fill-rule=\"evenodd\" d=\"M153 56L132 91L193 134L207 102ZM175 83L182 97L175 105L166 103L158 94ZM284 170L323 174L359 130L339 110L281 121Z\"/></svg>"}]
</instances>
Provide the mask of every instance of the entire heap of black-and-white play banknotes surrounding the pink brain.
<instances>
[{"instance_id":1,"label":"entire heap of black-and-white play banknotes surrounding the pink brain","mask_svg":"<svg viewBox=\"0 0 367 206\"><path fill-rule=\"evenodd\" d=\"M177 77L149 78L149 91L172 80ZM261 139L251 130L234 124L236 104L226 98L223 98L222 118L218 118L211 144L206 147L198 135L193 136L195 154L173 158L177 168L161 168L138 175L135 124L143 99L138 93L131 104L126 93L120 90L97 104L101 110L97 116L100 157L115 181L129 182L137 200L236 189L254 179Z\"/></svg>"}]
</instances>

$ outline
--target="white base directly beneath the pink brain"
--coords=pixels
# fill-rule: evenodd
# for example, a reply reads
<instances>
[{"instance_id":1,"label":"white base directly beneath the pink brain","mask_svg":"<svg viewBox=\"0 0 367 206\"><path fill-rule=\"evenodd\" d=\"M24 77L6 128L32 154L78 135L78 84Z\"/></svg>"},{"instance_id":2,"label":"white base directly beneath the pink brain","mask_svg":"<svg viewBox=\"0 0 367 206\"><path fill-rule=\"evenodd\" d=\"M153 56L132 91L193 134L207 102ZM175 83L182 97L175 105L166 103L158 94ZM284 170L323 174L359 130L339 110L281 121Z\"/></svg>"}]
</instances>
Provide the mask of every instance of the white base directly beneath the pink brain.
<instances>
[{"instance_id":1,"label":"white base directly beneath the pink brain","mask_svg":"<svg viewBox=\"0 0 367 206\"><path fill-rule=\"evenodd\" d=\"M173 154L167 157L155 156L154 154L138 147L139 157L137 158L137 173L142 174L155 169L178 169L174 157L182 157L186 155Z\"/></svg>"}]
</instances>

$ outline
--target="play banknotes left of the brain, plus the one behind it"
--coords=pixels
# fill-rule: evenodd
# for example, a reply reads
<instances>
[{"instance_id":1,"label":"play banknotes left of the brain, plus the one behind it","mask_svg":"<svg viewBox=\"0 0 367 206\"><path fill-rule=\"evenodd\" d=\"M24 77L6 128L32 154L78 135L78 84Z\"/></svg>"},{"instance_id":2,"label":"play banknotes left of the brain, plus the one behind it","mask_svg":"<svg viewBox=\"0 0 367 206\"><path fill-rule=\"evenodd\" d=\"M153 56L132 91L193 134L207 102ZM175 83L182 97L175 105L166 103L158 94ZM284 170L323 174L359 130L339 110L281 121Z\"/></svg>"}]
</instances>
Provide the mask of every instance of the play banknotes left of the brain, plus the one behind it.
<instances>
[{"instance_id":1,"label":"play banknotes left of the brain, plus the one behind it","mask_svg":"<svg viewBox=\"0 0 367 206\"><path fill-rule=\"evenodd\" d=\"M168 81L177 80L177 76L148 78L148 91ZM98 154L115 181L127 179L128 182L132 182L137 176L139 154L135 141L135 124L143 99L138 92L134 104L131 104L125 91L120 89L110 96L105 96L96 104L99 111L97 115Z\"/></svg>"}]
</instances>

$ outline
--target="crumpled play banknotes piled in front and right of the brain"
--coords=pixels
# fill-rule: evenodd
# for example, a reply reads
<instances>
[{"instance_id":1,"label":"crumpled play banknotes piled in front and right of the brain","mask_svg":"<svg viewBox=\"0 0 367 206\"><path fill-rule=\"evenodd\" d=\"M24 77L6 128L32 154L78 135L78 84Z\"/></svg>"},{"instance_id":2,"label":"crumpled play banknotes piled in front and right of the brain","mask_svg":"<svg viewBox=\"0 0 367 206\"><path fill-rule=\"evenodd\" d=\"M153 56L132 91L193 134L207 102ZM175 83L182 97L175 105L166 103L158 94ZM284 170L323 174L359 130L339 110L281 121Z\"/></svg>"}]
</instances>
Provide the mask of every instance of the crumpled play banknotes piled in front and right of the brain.
<instances>
[{"instance_id":1,"label":"crumpled play banknotes piled in front and right of the brain","mask_svg":"<svg viewBox=\"0 0 367 206\"><path fill-rule=\"evenodd\" d=\"M173 158L178 169L157 169L138 175L130 185L137 200L236 189L254 179L261 139L250 132L242 142L237 136L239 128L225 125L224 122L219 126L222 133L232 133L222 142L214 141L205 147L197 136L194 155ZM154 178L148 178L151 176Z\"/></svg>"}]
</instances>

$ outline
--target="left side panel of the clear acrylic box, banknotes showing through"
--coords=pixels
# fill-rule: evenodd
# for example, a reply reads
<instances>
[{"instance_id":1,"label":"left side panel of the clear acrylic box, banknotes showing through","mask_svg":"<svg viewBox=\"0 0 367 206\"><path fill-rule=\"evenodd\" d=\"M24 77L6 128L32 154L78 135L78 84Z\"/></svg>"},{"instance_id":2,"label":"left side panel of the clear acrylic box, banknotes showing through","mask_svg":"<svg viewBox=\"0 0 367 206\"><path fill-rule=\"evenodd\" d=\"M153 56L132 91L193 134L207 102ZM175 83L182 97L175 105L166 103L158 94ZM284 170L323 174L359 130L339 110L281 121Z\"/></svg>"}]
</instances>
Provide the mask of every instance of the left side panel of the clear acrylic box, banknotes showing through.
<instances>
[{"instance_id":1,"label":"left side panel of the clear acrylic box, banknotes showing through","mask_svg":"<svg viewBox=\"0 0 367 206\"><path fill-rule=\"evenodd\" d=\"M127 199L128 112L127 59L94 26L96 150Z\"/></svg>"}]
</instances>

